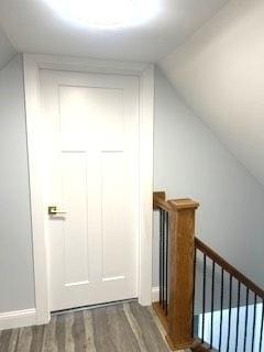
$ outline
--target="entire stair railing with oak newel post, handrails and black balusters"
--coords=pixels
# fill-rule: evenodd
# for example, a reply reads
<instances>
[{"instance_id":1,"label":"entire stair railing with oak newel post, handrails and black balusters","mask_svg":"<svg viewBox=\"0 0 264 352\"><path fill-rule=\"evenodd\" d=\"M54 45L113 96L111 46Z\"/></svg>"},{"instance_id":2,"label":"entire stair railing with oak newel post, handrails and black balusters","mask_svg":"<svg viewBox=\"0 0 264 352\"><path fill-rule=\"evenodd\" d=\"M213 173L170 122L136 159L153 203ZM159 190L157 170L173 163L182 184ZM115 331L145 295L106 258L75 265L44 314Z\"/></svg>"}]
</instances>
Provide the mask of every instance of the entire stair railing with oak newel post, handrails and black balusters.
<instances>
[{"instance_id":1,"label":"entire stair railing with oak newel post, handrails and black balusters","mask_svg":"<svg viewBox=\"0 0 264 352\"><path fill-rule=\"evenodd\" d=\"M153 307L172 350L264 352L264 290L195 238L199 204L166 200L160 212L160 299ZM243 255L243 254L241 254Z\"/></svg>"}]
</instances>

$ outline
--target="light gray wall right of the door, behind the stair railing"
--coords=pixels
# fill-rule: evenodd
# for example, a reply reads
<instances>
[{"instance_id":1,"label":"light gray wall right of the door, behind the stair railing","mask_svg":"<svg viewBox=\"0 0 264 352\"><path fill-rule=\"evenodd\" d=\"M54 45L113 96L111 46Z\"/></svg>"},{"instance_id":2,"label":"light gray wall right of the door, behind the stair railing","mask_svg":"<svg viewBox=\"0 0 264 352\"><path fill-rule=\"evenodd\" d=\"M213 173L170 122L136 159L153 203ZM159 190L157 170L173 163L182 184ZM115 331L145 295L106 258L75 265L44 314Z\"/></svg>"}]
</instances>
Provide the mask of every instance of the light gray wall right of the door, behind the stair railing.
<instances>
[{"instance_id":1,"label":"light gray wall right of the door, behind the stair railing","mask_svg":"<svg viewBox=\"0 0 264 352\"><path fill-rule=\"evenodd\" d=\"M197 235L264 286L264 188L156 69L154 188L200 202ZM157 231L153 285L157 286Z\"/></svg>"}]
</instances>

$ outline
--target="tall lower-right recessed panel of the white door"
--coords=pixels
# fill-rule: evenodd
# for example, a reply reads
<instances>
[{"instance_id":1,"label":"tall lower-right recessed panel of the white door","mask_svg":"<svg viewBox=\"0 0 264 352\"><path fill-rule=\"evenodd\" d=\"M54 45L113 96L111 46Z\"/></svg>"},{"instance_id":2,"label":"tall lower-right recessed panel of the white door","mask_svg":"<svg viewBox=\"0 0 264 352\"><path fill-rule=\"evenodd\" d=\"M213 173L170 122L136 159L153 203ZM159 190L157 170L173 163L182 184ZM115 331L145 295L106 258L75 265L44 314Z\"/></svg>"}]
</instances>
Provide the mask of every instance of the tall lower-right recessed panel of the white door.
<instances>
[{"instance_id":1,"label":"tall lower-right recessed panel of the white door","mask_svg":"<svg viewBox=\"0 0 264 352\"><path fill-rule=\"evenodd\" d=\"M120 167L120 165L122 165ZM125 243L124 165L122 152L103 152L102 166L102 279L124 277L123 249ZM121 169L117 174L117 169ZM114 207L112 207L114 199Z\"/></svg>"}]
</instances>

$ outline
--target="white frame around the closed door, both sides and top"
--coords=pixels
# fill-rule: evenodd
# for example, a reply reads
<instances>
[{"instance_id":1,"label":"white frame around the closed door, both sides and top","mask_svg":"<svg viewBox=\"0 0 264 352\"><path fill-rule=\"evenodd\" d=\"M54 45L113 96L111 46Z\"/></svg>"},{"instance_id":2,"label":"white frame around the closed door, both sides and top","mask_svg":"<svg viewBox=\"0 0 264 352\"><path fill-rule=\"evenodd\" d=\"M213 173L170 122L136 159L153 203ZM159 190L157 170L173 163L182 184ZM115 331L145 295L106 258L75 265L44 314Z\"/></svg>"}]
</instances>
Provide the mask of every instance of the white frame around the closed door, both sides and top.
<instances>
[{"instance_id":1,"label":"white frame around the closed door, both sides and top","mask_svg":"<svg viewBox=\"0 0 264 352\"><path fill-rule=\"evenodd\" d=\"M153 193L153 123L154 123L154 65L106 62L67 56L23 54L26 133L29 148L30 195L33 238L36 323L47 323L48 261L45 219L41 183L43 155L41 121L40 69L64 69L100 74L136 75L140 78L140 250L139 301L152 301L152 193Z\"/></svg>"}]
</instances>

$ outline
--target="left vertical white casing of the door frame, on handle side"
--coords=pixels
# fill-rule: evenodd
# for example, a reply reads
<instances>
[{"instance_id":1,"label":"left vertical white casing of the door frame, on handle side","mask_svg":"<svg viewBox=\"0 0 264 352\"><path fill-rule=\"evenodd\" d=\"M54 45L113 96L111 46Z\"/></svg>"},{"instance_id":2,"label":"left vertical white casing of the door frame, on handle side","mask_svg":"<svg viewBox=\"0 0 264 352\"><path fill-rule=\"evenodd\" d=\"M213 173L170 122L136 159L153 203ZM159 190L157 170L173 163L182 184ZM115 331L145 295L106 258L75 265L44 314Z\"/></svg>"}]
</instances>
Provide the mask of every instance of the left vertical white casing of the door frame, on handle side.
<instances>
[{"instance_id":1,"label":"left vertical white casing of the door frame, on handle side","mask_svg":"<svg viewBox=\"0 0 264 352\"><path fill-rule=\"evenodd\" d=\"M41 187L40 157L40 79L38 66L34 56L24 55L24 91L26 112L26 134L30 169L31 221L33 237L33 261L35 284L36 323L47 323L51 319L48 309L46 238L44 229L44 205Z\"/></svg>"}]
</instances>

